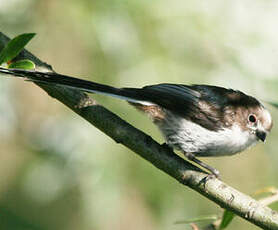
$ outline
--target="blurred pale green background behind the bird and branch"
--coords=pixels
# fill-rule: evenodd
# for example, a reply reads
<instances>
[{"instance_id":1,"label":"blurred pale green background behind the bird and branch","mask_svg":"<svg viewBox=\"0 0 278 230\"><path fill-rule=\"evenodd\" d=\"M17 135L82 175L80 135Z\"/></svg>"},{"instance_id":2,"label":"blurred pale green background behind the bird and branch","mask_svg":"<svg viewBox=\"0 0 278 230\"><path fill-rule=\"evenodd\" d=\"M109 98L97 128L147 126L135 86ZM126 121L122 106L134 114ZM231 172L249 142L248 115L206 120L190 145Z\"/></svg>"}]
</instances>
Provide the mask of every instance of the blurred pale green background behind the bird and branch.
<instances>
[{"instance_id":1,"label":"blurred pale green background behind the bird and branch","mask_svg":"<svg viewBox=\"0 0 278 230\"><path fill-rule=\"evenodd\" d=\"M278 2L0 0L0 28L60 73L119 87L204 83L278 101ZM163 142L127 103L98 102ZM278 113L270 105L274 123ZM278 187L266 144L205 159L246 194ZM273 208L278 209L275 205ZM32 83L0 78L0 228L190 229L221 209L116 144ZM259 229L236 218L228 229Z\"/></svg>"}]
</instances>

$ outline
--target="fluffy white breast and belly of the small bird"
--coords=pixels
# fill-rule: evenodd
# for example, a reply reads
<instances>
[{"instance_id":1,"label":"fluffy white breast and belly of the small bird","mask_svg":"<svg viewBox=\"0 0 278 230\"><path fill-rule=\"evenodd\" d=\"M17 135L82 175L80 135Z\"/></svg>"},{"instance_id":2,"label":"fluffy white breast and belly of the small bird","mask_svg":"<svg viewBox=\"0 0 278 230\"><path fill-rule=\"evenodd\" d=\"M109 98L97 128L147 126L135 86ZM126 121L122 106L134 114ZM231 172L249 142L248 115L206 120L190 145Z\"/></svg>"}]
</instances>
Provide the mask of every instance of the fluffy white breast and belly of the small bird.
<instances>
[{"instance_id":1,"label":"fluffy white breast and belly of the small bird","mask_svg":"<svg viewBox=\"0 0 278 230\"><path fill-rule=\"evenodd\" d=\"M196 156L232 155L257 142L254 134L242 131L238 125L215 132L171 112L157 125L168 145Z\"/></svg>"}]
</instances>

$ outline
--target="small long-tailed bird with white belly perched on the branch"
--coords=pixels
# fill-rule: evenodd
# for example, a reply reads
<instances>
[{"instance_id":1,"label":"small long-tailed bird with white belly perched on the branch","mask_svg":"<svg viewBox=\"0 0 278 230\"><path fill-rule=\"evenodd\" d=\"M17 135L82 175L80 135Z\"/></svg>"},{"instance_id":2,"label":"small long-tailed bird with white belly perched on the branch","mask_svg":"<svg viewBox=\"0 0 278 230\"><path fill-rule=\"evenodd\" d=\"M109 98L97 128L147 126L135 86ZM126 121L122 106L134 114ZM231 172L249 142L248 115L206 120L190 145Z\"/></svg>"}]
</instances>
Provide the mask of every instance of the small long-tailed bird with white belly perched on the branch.
<instances>
[{"instance_id":1,"label":"small long-tailed bird with white belly perched on the branch","mask_svg":"<svg viewBox=\"0 0 278 230\"><path fill-rule=\"evenodd\" d=\"M270 112L256 98L220 86L160 83L116 88L55 72L0 67L0 73L126 100L151 118L166 146L216 177L219 171L199 157L242 152L258 141L265 142L273 126Z\"/></svg>"}]
</instances>

